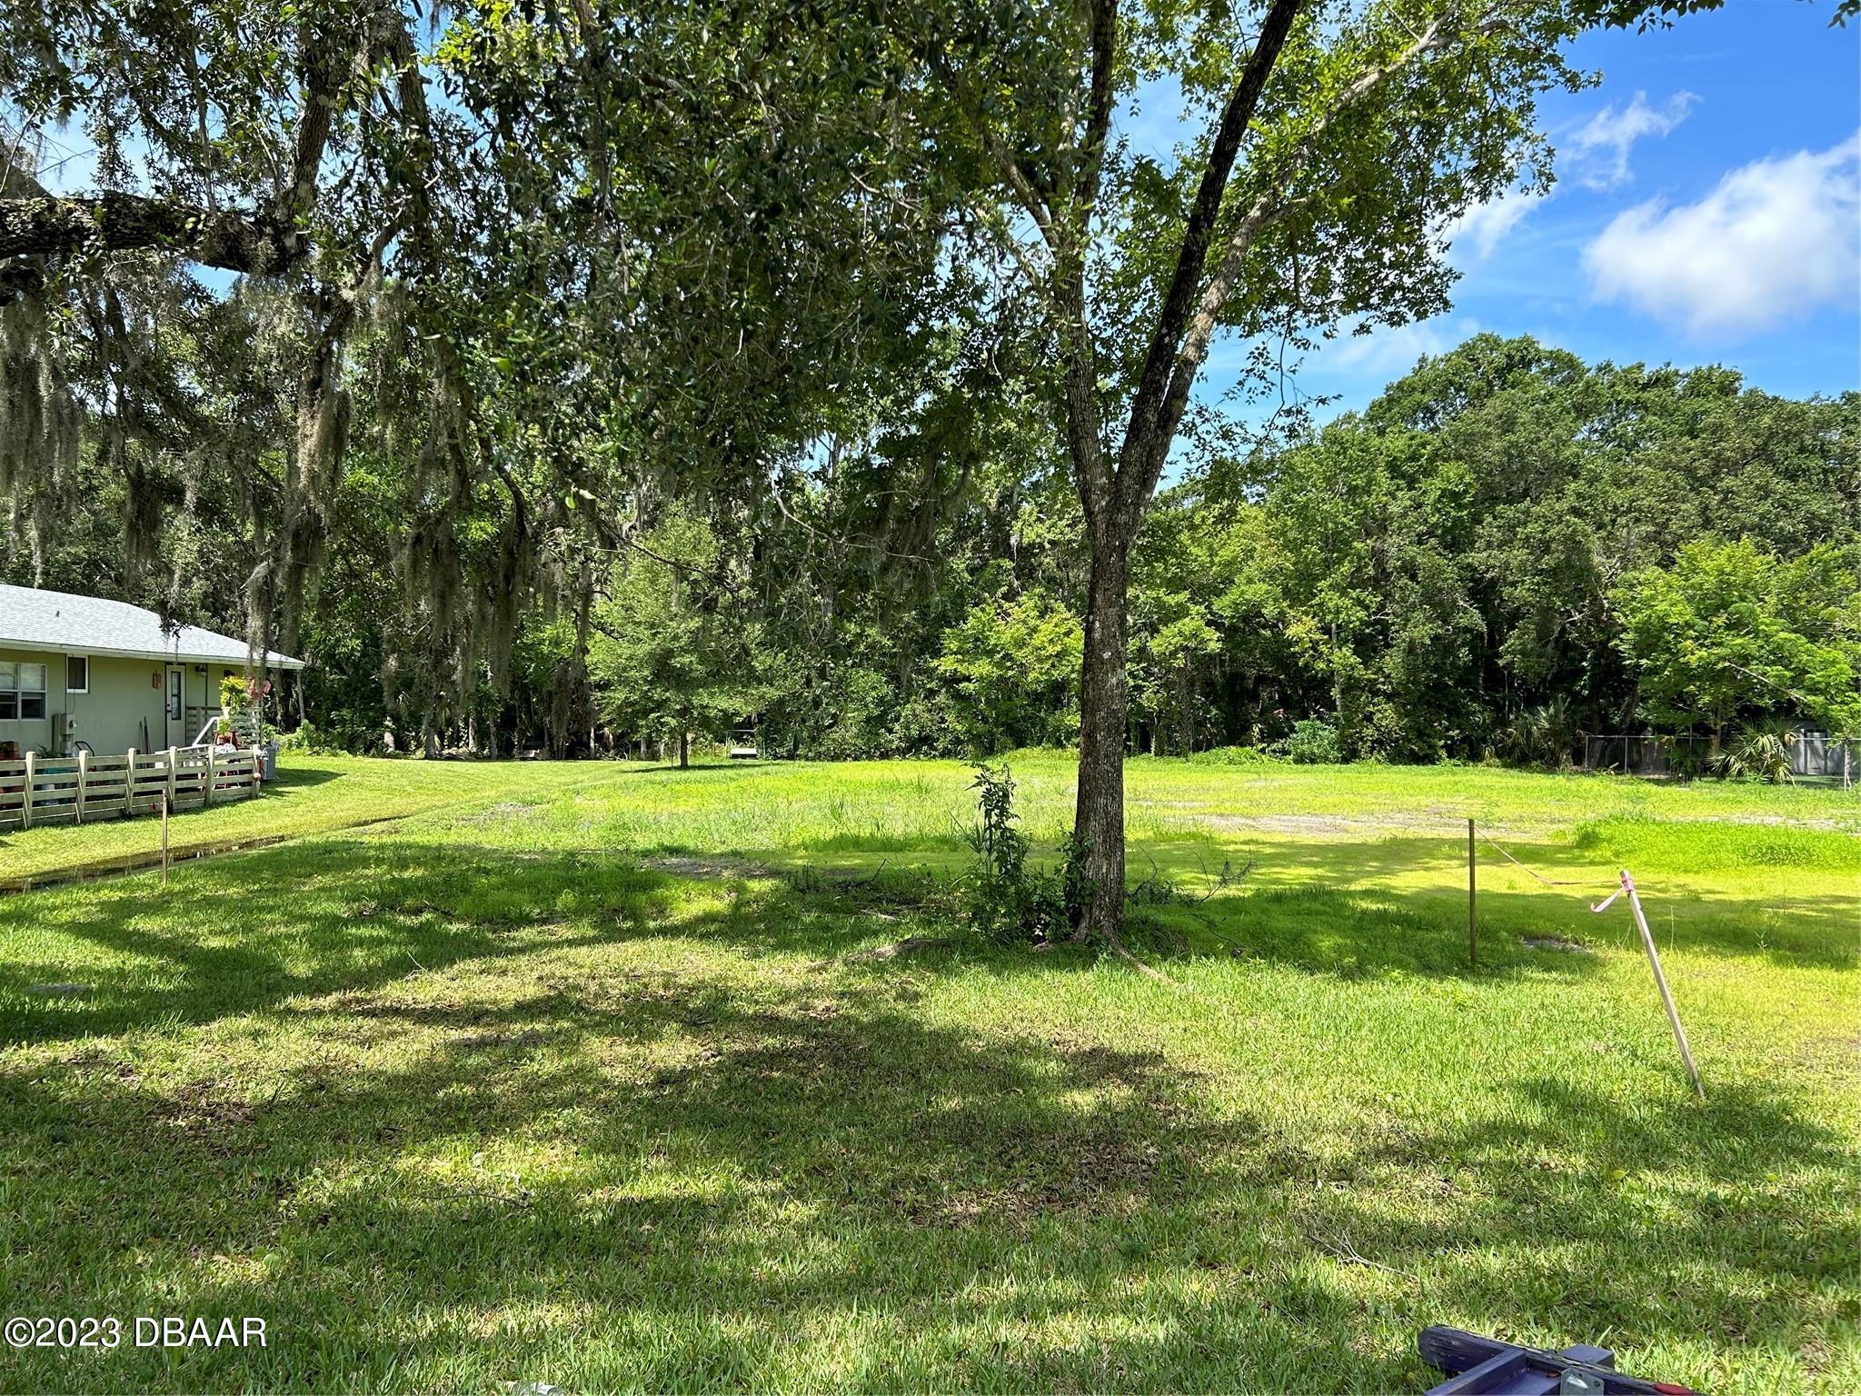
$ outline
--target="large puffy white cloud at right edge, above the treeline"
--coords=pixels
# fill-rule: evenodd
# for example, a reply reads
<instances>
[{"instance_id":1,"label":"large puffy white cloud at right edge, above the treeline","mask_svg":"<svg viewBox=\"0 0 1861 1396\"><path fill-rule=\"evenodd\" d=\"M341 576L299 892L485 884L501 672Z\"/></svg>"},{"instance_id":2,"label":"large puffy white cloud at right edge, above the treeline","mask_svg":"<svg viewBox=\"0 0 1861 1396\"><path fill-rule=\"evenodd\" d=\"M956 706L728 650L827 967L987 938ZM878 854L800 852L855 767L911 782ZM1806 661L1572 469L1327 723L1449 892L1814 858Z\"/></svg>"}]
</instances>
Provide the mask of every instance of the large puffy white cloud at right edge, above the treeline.
<instances>
[{"instance_id":1,"label":"large puffy white cloud at right edge, above the treeline","mask_svg":"<svg viewBox=\"0 0 1861 1396\"><path fill-rule=\"evenodd\" d=\"M1729 339L1855 307L1861 132L1829 151L1755 160L1699 203L1628 208L1584 248L1591 294L1695 337Z\"/></svg>"}]
</instances>

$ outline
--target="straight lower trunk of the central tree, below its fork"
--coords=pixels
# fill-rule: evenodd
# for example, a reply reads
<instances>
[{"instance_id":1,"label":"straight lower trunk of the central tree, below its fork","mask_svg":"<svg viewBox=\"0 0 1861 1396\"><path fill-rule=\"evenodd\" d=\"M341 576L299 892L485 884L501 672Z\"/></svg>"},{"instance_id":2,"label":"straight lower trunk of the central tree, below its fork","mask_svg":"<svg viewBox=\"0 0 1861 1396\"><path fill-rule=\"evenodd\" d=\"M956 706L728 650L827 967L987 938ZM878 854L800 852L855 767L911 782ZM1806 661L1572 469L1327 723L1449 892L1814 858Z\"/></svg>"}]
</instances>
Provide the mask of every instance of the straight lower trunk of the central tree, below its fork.
<instances>
[{"instance_id":1,"label":"straight lower trunk of the central tree, below its fork","mask_svg":"<svg viewBox=\"0 0 1861 1396\"><path fill-rule=\"evenodd\" d=\"M1124 674L1130 540L1100 532L1085 603L1079 666L1079 800L1074 834L1083 838L1087 903L1074 908L1081 938L1117 940L1124 929L1124 735L1130 689Z\"/></svg>"}]
</instances>

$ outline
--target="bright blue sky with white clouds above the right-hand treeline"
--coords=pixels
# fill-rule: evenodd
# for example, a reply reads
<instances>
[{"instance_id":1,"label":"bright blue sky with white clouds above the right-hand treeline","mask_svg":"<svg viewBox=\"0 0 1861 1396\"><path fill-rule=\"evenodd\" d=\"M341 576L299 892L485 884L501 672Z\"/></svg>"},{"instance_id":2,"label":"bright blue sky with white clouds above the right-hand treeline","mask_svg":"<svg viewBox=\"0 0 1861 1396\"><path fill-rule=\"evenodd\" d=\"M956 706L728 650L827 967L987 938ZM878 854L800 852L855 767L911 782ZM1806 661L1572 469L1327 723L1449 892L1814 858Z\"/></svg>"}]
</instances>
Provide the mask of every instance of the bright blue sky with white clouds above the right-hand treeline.
<instances>
[{"instance_id":1,"label":"bright blue sky with white clouds above the right-hand treeline","mask_svg":"<svg viewBox=\"0 0 1861 1396\"><path fill-rule=\"evenodd\" d=\"M1861 387L1861 26L1833 0L1729 0L1651 34L1573 50L1602 82L1550 93L1550 197L1476 210L1444 316L1312 354L1301 393L1360 408L1474 331L1535 335L1584 359L1725 363L1774 393ZM1204 398L1234 385L1210 357ZM1226 372L1223 369L1226 367Z\"/></svg>"}]
</instances>

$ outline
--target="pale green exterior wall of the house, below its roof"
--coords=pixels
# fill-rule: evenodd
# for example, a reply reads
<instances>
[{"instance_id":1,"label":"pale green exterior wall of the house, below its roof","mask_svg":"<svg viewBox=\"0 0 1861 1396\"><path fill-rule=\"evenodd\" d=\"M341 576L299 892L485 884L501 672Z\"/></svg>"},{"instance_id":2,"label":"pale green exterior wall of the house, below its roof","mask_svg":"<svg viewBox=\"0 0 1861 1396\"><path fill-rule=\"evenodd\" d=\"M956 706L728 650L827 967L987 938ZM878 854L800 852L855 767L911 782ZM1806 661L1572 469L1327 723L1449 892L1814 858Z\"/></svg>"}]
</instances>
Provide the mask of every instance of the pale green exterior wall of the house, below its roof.
<instances>
[{"instance_id":1,"label":"pale green exterior wall of the house, below its roof","mask_svg":"<svg viewBox=\"0 0 1861 1396\"><path fill-rule=\"evenodd\" d=\"M82 653L73 650L71 653ZM160 659L89 657L89 692L65 689L65 653L9 650L0 646L0 664L45 664L43 718L0 718L0 741L17 741L22 752L52 750L52 715L73 717L73 737L87 741L99 756L186 746L199 733L207 713L220 707L220 679L242 674L238 664L181 661L182 717L167 720L167 664Z\"/></svg>"}]
</instances>

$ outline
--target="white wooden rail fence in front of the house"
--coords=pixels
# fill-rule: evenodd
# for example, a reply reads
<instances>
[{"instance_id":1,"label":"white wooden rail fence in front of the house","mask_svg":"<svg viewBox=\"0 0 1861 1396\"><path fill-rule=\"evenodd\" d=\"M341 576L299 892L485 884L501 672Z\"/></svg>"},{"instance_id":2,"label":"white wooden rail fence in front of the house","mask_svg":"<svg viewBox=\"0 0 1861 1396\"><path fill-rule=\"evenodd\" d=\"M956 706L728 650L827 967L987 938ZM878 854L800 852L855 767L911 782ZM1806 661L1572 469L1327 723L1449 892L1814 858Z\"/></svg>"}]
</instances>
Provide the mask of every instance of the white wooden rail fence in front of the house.
<instances>
[{"instance_id":1,"label":"white wooden rail fence in front of the house","mask_svg":"<svg viewBox=\"0 0 1861 1396\"><path fill-rule=\"evenodd\" d=\"M197 810L259 793L257 746L169 746L127 756L28 756L0 761L0 828Z\"/></svg>"}]
</instances>

